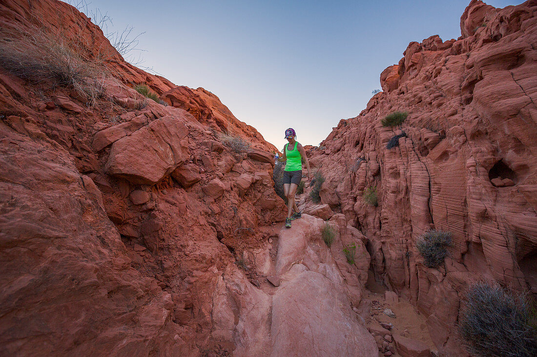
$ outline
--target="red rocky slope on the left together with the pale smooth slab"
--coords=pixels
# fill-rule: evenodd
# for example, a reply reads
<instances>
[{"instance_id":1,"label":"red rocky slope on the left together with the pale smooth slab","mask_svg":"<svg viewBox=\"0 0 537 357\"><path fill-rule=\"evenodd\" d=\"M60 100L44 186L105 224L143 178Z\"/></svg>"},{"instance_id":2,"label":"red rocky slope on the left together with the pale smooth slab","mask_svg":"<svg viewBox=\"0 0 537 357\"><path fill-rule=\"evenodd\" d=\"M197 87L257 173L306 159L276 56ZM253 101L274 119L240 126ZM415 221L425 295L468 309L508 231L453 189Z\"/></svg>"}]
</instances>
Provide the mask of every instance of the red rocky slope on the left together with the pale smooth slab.
<instances>
[{"instance_id":1,"label":"red rocky slope on the left together with the pale smooth slab","mask_svg":"<svg viewBox=\"0 0 537 357\"><path fill-rule=\"evenodd\" d=\"M376 353L364 274L324 221L278 235L255 128L129 65L70 5L2 2L0 23L0 355ZM73 77L88 68L103 79Z\"/></svg>"}]
</instances>

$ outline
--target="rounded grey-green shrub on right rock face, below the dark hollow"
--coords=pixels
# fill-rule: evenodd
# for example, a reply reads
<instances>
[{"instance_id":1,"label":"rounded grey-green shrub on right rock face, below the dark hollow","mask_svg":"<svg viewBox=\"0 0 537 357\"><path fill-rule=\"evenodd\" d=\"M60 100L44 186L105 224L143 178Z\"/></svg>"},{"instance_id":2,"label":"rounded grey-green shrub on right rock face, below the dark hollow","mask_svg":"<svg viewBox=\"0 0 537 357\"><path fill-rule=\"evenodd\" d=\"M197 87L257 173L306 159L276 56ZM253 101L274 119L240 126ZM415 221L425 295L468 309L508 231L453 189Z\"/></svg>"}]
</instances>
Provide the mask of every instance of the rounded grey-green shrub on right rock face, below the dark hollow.
<instances>
[{"instance_id":1,"label":"rounded grey-green shrub on right rock face, below the dark hollow","mask_svg":"<svg viewBox=\"0 0 537 357\"><path fill-rule=\"evenodd\" d=\"M416 241L416 248L428 267L437 267L442 264L448 255L446 247L451 246L451 232L436 229L427 230Z\"/></svg>"}]
</instances>

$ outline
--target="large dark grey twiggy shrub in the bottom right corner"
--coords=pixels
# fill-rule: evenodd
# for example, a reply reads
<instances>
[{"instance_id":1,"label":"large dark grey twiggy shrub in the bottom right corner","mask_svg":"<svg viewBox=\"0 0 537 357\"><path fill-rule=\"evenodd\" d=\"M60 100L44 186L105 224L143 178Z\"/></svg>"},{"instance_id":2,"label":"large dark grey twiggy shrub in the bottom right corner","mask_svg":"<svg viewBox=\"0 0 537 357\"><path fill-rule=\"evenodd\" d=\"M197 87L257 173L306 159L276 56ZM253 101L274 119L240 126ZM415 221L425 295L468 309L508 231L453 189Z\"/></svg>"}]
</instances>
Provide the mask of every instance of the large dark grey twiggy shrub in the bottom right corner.
<instances>
[{"instance_id":1,"label":"large dark grey twiggy shrub in the bottom right corner","mask_svg":"<svg viewBox=\"0 0 537 357\"><path fill-rule=\"evenodd\" d=\"M535 310L524 295L477 282L468 289L459 316L459 332L470 354L537 355Z\"/></svg>"}]
</instances>

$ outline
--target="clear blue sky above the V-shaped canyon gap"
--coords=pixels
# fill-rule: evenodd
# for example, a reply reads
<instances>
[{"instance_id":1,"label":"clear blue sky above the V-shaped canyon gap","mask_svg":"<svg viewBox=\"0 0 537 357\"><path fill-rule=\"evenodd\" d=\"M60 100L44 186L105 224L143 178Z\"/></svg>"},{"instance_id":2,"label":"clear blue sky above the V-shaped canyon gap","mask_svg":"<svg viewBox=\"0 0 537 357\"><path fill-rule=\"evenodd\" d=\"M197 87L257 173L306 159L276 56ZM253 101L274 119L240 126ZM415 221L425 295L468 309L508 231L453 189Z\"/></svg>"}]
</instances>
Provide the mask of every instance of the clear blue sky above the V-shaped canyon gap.
<instances>
[{"instance_id":1,"label":"clear blue sky above the V-shaped canyon gap","mask_svg":"<svg viewBox=\"0 0 537 357\"><path fill-rule=\"evenodd\" d=\"M145 32L144 66L213 92L283 147L288 127L303 145L318 145L340 119L358 115L409 42L458 38L469 2L91 0L88 8L107 12L116 30Z\"/></svg>"}]
</instances>

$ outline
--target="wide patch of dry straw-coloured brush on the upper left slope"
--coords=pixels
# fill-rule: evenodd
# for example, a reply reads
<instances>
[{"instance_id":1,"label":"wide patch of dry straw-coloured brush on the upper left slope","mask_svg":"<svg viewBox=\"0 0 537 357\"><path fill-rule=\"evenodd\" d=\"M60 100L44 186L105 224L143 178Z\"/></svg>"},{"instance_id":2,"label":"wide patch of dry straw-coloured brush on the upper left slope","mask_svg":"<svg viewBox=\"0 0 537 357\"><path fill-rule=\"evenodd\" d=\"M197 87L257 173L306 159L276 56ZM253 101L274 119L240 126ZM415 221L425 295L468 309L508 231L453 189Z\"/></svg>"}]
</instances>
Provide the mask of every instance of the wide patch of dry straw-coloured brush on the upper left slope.
<instances>
[{"instance_id":1,"label":"wide patch of dry straw-coloured brush on the upper left slope","mask_svg":"<svg viewBox=\"0 0 537 357\"><path fill-rule=\"evenodd\" d=\"M35 30L0 32L0 66L20 78L73 88L89 103L104 95L105 66L81 55L75 40Z\"/></svg>"}]
</instances>

